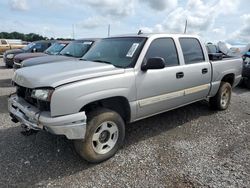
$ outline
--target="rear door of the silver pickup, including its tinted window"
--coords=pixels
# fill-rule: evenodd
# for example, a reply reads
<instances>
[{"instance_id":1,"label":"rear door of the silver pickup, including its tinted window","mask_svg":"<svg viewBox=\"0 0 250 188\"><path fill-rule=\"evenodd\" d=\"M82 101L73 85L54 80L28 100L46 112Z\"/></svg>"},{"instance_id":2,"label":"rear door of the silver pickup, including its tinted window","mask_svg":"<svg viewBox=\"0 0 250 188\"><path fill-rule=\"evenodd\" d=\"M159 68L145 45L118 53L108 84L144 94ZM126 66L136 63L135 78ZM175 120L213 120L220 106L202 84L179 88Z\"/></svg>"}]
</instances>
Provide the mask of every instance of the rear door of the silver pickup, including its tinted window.
<instances>
[{"instance_id":1,"label":"rear door of the silver pickup, including its tinted window","mask_svg":"<svg viewBox=\"0 0 250 188\"><path fill-rule=\"evenodd\" d=\"M179 38L185 66L183 66L183 86L185 97L183 102L205 98L210 90L212 77L211 63L205 60L201 44L196 38Z\"/></svg>"}]
</instances>

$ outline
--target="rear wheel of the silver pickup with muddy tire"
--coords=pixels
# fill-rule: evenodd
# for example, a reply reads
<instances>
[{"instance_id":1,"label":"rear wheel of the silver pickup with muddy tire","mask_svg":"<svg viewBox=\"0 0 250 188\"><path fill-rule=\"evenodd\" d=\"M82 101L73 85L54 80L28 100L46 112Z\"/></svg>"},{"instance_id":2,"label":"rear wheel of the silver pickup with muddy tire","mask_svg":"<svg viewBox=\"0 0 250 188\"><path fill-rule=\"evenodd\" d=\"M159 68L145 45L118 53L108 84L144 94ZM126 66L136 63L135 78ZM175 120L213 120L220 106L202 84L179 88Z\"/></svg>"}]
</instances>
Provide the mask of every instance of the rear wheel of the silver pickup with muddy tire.
<instances>
[{"instance_id":1,"label":"rear wheel of the silver pickup with muddy tire","mask_svg":"<svg viewBox=\"0 0 250 188\"><path fill-rule=\"evenodd\" d=\"M232 87L228 82L221 82L219 91L209 99L210 106L215 110L226 110L230 104Z\"/></svg>"}]
</instances>

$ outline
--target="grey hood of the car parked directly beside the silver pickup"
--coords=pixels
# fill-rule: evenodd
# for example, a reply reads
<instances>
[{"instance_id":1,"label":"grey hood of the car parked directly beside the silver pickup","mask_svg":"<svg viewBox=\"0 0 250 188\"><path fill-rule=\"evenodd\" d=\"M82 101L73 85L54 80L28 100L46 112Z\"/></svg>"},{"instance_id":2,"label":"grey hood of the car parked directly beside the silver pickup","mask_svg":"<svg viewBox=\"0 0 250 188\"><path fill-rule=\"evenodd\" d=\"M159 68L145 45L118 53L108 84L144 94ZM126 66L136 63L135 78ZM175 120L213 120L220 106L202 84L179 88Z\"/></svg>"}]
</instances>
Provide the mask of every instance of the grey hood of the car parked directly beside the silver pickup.
<instances>
[{"instance_id":1,"label":"grey hood of the car parked directly beside the silver pickup","mask_svg":"<svg viewBox=\"0 0 250 188\"><path fill-rule=\"evenodd\" d=\"M42 57L36 57L36 58L25 60L22 62L22 67L29 67L33 65L40 65L40 64L45 64L45 63L58 62L58 61L71 60L71 59L75 59L75 58L67 57L63 55L46 55Z\"/></svg>"}]
</instances>

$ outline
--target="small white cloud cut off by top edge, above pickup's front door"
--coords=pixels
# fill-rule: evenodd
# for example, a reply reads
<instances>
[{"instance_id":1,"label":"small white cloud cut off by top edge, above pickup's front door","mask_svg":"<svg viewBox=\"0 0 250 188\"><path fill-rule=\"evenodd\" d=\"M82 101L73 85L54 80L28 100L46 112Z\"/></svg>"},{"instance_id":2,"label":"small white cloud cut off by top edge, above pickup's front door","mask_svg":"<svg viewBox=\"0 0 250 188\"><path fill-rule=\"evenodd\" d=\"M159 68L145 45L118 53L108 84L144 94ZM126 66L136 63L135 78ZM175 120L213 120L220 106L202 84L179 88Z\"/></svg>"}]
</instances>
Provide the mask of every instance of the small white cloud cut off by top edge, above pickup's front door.
<instances>
[{"instance_id":1,"label":"small white cloud cut off by top edge, above pickup's front door","mask_svg":"<svg viewBox=\"0 0 250 188\"><path fill-rule=\"evenodd\" d=\"M154 10L171 10L177 7L177 0L140 0L141 3L147 3Z\"/></svg>"}]
</instances>

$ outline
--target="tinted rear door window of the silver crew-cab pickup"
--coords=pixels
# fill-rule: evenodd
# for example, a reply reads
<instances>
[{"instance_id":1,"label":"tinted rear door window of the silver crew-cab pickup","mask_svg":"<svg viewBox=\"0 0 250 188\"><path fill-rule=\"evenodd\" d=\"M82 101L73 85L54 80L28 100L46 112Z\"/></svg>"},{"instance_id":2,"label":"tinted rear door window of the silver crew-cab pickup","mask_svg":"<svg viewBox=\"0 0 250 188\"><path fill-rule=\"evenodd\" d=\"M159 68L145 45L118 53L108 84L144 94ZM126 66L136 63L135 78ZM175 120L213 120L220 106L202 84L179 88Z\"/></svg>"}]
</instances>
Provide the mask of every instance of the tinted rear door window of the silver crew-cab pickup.
<instances>
[{"instance_id":1,"label":"tinted rear door window of the silver crew-cab pickup","mask_svg":"<svg viewBox=\"0 0 250 188\"><path fill-rule=\"evenodd\" d=\"M179 39L185 64L199 63L205 60L200 42L195 38Z\"/></svg>"}]
</instances>

